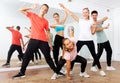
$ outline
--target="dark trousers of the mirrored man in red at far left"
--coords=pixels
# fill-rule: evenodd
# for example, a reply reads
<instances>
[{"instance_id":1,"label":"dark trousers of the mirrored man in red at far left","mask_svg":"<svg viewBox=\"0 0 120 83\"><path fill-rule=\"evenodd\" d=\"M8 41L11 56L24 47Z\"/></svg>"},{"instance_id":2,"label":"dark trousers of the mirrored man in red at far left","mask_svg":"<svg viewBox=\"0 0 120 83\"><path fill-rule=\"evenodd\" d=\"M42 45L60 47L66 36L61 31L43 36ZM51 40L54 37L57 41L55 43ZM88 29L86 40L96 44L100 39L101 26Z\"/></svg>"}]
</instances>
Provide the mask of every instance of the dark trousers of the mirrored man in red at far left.
<instances>
[{"instance_id":1,"label":"dark trousers of the mirrored man in red at far left","mask_svg":"<svg viewBox=\"0 0 120 83\"><path fill-rule=\"evenodd\" d=\"M21 61L23 58L23 52L22 52L22 48L19 45L11 45L10 49L8 51L8 56L7 56L7 62L6 63L10 63L11 60L11 56L12 54L17 50L17 52L19 53L18 55L18 59Z\"/></svg>"}]
</instances>

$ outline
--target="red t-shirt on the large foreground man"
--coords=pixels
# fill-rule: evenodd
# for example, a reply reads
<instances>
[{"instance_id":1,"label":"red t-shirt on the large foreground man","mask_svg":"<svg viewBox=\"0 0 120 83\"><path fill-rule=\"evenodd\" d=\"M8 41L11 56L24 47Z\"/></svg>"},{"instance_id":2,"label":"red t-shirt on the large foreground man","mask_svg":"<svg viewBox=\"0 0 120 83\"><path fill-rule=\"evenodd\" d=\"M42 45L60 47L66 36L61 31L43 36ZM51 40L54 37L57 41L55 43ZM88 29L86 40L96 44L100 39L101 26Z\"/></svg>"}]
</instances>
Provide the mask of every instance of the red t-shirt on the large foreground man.
<instances>
[{"instance_id":1,"label":"red t-shirt on the large foreground man","mask_svg":"<svg viewBox=\"0 0 120 83\"><path fill-rule=\"evenodd\" d=\"M45 31L48 30L48 21L45 18L39 17L37 14L27 12L27 17L31 21L31 34L30 38L48 41Z\"/></svg>"}]
</instances>

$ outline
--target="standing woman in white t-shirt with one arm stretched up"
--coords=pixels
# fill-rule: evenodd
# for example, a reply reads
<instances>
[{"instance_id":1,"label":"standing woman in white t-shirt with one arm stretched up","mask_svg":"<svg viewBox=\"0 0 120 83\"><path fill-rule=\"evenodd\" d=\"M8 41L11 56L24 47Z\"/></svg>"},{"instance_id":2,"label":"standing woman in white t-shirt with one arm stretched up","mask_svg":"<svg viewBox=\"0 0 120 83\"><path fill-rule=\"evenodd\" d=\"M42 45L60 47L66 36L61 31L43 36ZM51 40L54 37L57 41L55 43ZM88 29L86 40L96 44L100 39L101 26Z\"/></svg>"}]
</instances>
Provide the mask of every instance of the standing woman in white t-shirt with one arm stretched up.
<instances>
[{"instance_id":1,"label":"standing woman in white t-shirt with one arm stretched up","mask_svg":"<svg viewBox=\"0 0 120 83\"><path fill-rule=\"evenodd\" d=\"M78 38L78 42L77 42L77 52L80 51L80 49L82 48L83 45L87 45L90 53L92 54L92 57L93 57L95 63L97 64L98 69L100 70L100 75L101 76L105 76L106 74L105 74L104 71L102 71L100 62L97 59L97 55L95 53L95 46L94 46L94 43L93 43L92 34L95 33L96 24L94 24L93 21L91 21L89 19L89 9L88 8L84 8L82 10L83 19L81 19L81 18L77 17L75 14L73 14L63 4L60 4L60 6L75 21L77 21L79 23L79 28L78 28L78 30L79 30L79 38Z\"/></svg>"}]
</instances>

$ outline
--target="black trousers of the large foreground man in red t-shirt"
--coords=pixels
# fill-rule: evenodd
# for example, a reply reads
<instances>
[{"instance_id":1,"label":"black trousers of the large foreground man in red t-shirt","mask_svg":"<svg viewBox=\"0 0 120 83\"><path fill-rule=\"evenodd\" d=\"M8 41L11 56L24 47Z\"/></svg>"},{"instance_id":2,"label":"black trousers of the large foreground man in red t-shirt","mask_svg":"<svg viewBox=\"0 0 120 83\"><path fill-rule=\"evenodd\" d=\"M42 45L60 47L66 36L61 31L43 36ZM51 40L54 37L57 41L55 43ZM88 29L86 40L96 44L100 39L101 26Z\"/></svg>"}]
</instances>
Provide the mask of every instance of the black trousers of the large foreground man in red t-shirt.
<instances>
[{"instance_id":1,"label":"black trousers of the large foreground man in red t-shirt","mask_svg":"<svg viewBox=\"0 0 120 83\"><path fill-rule=\"evenodd\" d=\"M36 39L30 39L27 49L25 51L25 55L23 57L23 62L22 62L22 66L20 69L21 73L25 74L25 71L29 64L29 61L33 57L33 53L35 52L35 50L38 48L40 48L41 52L43 53L43 55L45 57L47 64L50 66L50 68L54 72L57 71L57 69L54 65L54 62L50 56L50 47L48 45L48 42L44 42L44 41L40 41L40 40L36 40Z\"/></svg>"}]
</instances>

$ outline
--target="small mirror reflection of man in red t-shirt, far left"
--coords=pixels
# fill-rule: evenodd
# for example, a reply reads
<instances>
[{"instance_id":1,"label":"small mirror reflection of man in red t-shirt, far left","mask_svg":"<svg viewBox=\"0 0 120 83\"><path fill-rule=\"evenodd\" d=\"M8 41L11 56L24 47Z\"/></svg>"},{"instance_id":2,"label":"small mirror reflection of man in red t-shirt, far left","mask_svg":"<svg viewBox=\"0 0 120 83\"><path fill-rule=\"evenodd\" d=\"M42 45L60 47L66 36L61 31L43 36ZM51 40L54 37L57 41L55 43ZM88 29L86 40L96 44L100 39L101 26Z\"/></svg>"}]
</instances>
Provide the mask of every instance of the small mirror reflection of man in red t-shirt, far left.
<instances>
[{"instance_id":1,"label":"small mirror reflection of man in red t-shirt, far left","mask_svg":"<svg viewBox=\"0 0 120 83\"><path fill-rule=\"evenodd\" d=\"M3 67L4 66L9 67L10 66L11 56L12 56L13 52L16 51L16 50L19 53L18 58L21 61L22 58L23 58L23 52L22 52L21 44L22 44L22 47L24 47L22 34L19 32L20 26L17 26L16 30L13 29L14 27L6 27L6 28L12 33L12 44L11 44L10 49L8 51L7 61L6 61L5 64L2 65Z\"/></svg>"}]
</instances>

